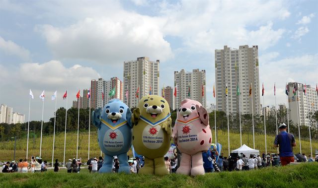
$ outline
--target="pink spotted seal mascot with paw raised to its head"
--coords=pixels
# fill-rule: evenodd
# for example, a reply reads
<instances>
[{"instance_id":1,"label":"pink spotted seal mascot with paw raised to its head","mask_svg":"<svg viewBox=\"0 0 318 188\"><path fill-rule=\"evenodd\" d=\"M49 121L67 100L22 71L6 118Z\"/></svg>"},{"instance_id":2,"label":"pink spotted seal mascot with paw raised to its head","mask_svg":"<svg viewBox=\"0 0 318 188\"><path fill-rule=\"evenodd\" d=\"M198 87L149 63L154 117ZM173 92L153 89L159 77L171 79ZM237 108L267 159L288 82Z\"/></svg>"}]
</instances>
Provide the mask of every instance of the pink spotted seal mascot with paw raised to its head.
<instances>
[{"instance_id":1,"label":"pink spotted seal mascot with paw raised to its head","mask_svg":"<svg viewBox=\"0 0 318 188\"><path fill-rule=\"evenodd\" d=\"M209 114L198 101L184 99L177 112L172 137L182 153L178 174L204 175L202 151L212 142ZM191 161L192 157L192 161Z\"/></svg>"}]
</instances>

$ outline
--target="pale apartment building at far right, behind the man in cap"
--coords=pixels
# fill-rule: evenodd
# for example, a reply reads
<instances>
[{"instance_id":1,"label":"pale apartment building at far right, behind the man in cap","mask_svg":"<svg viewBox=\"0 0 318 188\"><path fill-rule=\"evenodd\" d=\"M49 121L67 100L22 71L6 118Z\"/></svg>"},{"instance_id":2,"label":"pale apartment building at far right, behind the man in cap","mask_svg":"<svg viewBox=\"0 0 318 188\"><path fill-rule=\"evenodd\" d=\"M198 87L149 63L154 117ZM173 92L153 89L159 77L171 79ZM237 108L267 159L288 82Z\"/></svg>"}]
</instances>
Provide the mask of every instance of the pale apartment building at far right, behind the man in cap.
<instances>
[{"instance_id":1,"label":"pale apartment building at far right, behind the man in cap","mask_svg":"<svg viewBox=\"0 0 318 188\"><path fill-rule=\"evenodd\" d=\"M297 89L296 95L293 93L295 86ZM304 93L305 84L289 82L287 87L289 89L288 105L290 109L290 119L294 124L300 123L300 125L309 126L311 124L308 118L309 113L315 113L318 110L318 96L315 87L306 85L306 95Z\"/></svg>"}]
</instances>

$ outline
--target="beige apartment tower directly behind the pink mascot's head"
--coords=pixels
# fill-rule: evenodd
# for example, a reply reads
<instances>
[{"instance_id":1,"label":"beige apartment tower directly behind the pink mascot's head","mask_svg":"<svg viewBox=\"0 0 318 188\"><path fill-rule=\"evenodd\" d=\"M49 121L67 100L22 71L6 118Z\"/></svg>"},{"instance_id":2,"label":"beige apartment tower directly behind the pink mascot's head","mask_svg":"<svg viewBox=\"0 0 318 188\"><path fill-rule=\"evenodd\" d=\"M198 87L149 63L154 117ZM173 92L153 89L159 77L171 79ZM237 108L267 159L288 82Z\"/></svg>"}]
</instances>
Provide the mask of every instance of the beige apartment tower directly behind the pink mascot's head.
<instances>
[{"instance_id":1,"label":"beige apartment tower directly behind the pink mascot's head","mask_svg":"<svg viewBox=\"0 0 318 188\"><path fill-rule=\"evenodd\" d=\"M174 85L177 87L175 108L178 108L185 98L199 101L206 107L205 70L193 69L192 72L186 72L181 69L180 72L174 71Z\"/></svg>"}]
</instances>

